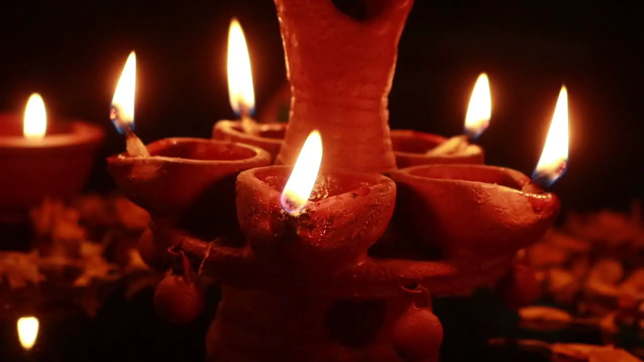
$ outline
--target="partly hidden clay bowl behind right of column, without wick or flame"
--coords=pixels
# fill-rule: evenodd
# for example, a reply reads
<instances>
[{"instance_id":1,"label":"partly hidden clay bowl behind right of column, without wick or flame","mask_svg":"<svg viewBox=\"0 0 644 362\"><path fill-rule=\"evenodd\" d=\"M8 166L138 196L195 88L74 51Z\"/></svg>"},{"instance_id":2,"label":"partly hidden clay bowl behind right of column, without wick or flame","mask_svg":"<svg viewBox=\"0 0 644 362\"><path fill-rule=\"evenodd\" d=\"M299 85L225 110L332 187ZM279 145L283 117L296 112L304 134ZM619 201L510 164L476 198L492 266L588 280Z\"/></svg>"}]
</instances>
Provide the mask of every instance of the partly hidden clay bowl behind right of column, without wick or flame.
<instances>
[{"instance_id":1,"label":"partly hidden clay bowl behind right of column, without wick or flame","mask_svg":"<svg viewBox=\"0 0 644 362\"><path fill-rule=\"evenodd\" d=\"M398 168L430 164L484 164L483 149L475 144L469 144L465 151L448 155L426 155L447 138L411 131L408 129L393 129L392 144Z\"/></svg>"}]
</instances>

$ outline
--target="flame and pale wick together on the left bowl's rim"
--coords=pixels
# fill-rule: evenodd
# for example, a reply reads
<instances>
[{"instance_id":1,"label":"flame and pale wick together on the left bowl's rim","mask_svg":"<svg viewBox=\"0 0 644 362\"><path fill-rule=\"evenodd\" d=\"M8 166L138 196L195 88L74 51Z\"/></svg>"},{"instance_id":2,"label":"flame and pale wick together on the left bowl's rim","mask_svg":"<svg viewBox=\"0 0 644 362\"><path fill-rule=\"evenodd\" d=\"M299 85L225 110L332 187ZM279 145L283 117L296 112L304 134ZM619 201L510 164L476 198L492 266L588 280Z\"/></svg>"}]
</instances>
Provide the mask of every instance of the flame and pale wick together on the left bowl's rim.
<instances>
[{"instance_id":1,"label":"flame and pale wick together on the left bowl's rim","mask_svg":"<svg viewBox=\"0 0 644 362\"><path fill-rule=\"evenodd\" d=\"M123 67L112 103L109 119L118 132L126 137L126 149L132 157L149 157L146 146L134 133L134 101L137 89L137 55L129 53Z\"/></svg>"}]
</instances>

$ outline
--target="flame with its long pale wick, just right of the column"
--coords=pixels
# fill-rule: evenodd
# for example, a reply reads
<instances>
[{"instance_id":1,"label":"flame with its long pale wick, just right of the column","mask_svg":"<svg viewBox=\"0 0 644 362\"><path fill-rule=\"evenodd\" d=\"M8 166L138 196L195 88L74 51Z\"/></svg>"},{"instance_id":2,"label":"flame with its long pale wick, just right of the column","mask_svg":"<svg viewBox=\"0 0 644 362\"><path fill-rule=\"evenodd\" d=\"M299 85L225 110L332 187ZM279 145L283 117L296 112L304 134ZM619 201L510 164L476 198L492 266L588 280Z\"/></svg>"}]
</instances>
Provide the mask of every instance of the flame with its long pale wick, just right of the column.
<instances>
[{"instance_id":1,"label":"flame with its long pale wick, just right of the column","mask_svg":"<svg viewBox=\"0 0 644 362\"><path fill-rule=\"evenodd\" d=\"M427 151L427 155L458 153L468 147L469 140L477 139L489 126L492 116L492 97L486 73L478 76L469 98L468 112L465 115L465 132L446 140L439 146Z\"/></svg>"}]
</instances>

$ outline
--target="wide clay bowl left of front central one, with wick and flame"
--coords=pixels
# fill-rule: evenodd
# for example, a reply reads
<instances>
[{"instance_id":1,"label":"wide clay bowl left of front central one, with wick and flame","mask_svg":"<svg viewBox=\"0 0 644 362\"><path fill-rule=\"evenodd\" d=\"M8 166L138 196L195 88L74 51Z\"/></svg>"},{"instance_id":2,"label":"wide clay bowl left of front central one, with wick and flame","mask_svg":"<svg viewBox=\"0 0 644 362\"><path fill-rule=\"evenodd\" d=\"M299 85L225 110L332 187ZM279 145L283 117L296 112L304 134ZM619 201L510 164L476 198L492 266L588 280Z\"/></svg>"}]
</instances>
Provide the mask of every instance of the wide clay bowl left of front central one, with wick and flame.
<instances>
[{"instance_id":1,"label":"wide clay bowl left of front central one, with wick and flame","mask_svg":"<svg viewBox=\"0 0 644 362\"><path fill-rule=\"evenodd\" d=\"M208 237L234 233L234 184L240 171L270 164L263 149L205 138L165 138L144 146L134 135L135 59L131 53L118 81L110 117L126 135L127 151L108 158L118 188L151 214L152 231L159 225L181 224ZM142 256L152 266L167 251L164 238L142 243ZM204 235L204 237L206 237ZM157 243L158 242L158 243ZM151 247L154 246L154 247ZM147 257L146 257L147 256ZM160 263L160 267L165 267Z\"/></svg>"}]
</instances>

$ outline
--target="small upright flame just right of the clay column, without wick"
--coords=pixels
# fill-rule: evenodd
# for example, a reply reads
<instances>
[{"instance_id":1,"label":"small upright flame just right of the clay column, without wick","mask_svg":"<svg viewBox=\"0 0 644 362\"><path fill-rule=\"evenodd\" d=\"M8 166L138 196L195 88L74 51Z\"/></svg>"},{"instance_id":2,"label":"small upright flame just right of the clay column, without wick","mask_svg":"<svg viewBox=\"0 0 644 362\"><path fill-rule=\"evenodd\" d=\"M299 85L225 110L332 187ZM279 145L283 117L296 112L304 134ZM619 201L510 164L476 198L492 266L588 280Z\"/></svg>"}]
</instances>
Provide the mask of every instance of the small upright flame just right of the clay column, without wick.
<instances>
[{"instance_id":1,"label":"small upright flame just right of the clay column, without wick","mask_svg":"<svg viewBox=\"0 0 644 362\"><path fill-rule=\"evenodd\" d=\"M470 137L477 138L488 128L491 116L492 97L488 75L481 73L469 98L468 113L465 115L465 132Z\"/></svg>"}]
</instances>

